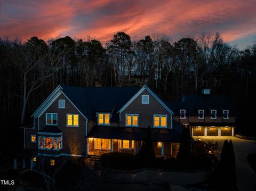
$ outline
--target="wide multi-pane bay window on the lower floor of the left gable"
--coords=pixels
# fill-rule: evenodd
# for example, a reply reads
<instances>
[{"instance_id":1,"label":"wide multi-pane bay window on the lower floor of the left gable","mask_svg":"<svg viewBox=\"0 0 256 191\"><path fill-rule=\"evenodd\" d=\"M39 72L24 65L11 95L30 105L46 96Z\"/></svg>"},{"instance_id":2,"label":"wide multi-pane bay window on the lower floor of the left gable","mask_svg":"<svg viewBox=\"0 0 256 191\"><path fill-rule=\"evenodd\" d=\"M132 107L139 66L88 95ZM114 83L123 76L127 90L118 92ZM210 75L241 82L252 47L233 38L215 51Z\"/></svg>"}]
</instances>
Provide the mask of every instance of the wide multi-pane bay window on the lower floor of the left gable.
<instances>
[{"instance_id":1,"label":"wide multi-pane bay window on the lower floor of the left gable","mask_svg":"<svg viewBox=\"0 0 256 191\"><path fill-rule=\"evenodd\" d=\"M62 137L38 137L38 148L42 150L60 150Z\"/></svg>"}]
</instances>

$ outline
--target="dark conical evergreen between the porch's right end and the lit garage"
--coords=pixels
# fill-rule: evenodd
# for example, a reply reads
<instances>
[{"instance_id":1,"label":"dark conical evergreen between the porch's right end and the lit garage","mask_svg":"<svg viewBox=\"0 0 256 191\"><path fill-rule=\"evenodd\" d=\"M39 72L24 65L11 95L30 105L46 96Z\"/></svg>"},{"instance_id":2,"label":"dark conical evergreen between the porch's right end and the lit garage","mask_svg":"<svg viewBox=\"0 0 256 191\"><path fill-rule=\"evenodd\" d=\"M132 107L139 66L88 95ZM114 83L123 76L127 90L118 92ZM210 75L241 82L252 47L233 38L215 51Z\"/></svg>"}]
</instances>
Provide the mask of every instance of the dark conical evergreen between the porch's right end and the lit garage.
<instances>
[{"instance_id":1,"label":"dark conical evergreen between the porch's right end and the lit garage","mask_svg":"<svg viewBox=\"0 0 256 191\"><path fill-rule=\"evenodd\" d=\"M191 157L191 136L188 127L183 126L177 159L186 162Z\"/></svg>"}]
</instances>

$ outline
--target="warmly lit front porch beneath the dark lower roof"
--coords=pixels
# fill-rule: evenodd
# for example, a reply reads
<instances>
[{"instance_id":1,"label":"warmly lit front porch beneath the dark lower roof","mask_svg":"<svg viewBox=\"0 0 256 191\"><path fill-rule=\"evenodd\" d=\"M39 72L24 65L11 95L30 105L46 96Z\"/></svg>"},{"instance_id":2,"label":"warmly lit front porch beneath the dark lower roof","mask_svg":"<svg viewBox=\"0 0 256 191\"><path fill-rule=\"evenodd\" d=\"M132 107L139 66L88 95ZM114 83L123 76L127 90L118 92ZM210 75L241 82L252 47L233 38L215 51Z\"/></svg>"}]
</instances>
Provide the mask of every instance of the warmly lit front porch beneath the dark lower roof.
<instances>
[{"instance_id":1,"label":"warmly lit front porch beneath the dark lower roof","mask_svg":"<svg viewBox=\"0 0 256 191\"><path fill-rule=\"evenodd\" d=\"M87 138L87 155L100 156L104 153L139 153L141 140ZM176 157L179 151L179 143L153 142L153 148L157 157Z\"/></svg>"}]
</instances>

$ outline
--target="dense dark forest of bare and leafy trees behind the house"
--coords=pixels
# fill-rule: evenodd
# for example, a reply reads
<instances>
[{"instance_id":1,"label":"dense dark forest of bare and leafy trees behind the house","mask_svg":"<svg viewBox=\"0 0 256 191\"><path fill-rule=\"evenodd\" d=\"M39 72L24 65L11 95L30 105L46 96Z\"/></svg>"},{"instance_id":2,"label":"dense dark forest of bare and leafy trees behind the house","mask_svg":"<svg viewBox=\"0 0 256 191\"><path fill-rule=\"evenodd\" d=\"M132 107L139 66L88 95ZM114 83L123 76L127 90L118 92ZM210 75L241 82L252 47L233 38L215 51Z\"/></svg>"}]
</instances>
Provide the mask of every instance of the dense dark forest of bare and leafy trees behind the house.
<instances>
[{"instance_id":1,"label":"dense dark forest of bare and leafy trees behind the house","mask_svg":"<svg viewBox=\"0 0 256 191\"><path fill-rule=\"evenodd\" d=\"M239 51L219 33L173 43L164 35L133 41L118 32L105 45L68 36L47 41L2 38L0 51L2 138L22 139L19 127L31 122L31 113L58 85L146 84L169 101L209 87L214 94L230 96L240 124L252 126L256 114L255 41Z\"/></svg>"}]
</instances>

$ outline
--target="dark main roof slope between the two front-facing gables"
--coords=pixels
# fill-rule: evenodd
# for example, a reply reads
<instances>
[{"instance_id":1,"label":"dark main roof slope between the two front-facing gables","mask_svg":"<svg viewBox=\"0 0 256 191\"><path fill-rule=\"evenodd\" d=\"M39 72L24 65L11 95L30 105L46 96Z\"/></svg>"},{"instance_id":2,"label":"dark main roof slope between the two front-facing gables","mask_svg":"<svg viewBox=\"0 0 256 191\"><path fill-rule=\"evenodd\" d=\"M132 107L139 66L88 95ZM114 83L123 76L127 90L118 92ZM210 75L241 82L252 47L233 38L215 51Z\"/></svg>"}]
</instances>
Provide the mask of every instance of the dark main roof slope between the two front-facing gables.
<instances>
[{"instance_id":1,"label":"dark main roof slope between the two front-facing gables","mask_svg":"<svg viewBox=\"0 0 256 191\"><path fill-rule=\"evenodd\" d=\"M97 111L116 115L141 87L73 87L61 86L63 93L88 119L95 119ZM113 116L113 119L116 117Z\"/></svg>"}]
</instances>

